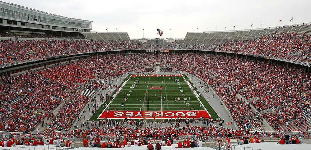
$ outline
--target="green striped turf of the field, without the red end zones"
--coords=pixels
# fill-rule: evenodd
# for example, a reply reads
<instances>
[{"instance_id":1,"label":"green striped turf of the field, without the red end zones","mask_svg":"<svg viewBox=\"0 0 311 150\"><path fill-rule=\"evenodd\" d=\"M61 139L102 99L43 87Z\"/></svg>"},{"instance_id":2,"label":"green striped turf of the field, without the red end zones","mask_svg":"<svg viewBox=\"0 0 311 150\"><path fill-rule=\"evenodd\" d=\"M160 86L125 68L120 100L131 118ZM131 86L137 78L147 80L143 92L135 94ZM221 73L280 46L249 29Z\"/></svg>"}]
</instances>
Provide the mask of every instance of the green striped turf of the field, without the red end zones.
<instances>
[{"instance_id":1,"label":"green striped turf of the field, without the red end zones","mask_svg":"<svg viewBox=\"0 0 311 150\"><path fill-rule=\"evenodd\" d=\"M129 77L130 75L124 81L127 81ZM187 76L185 77L187 79ZM179 80L179 82L177 83L175 80ZM135 82L137 86L132 86ZM163 89L150 89L151 86L161 86ZM183 92L181 92L181 90ZM159 98L161 97L161 91L162 105L161 98ZM180 98L180 101L175 102L175 98L177 97ZM124 101L124 98L126 98L126 101ZM187 98L186 102L184 102L184 98ZM213 111L207 101L203 97L200 97L200 100L210 113L211 117L217 118L218 116L216 112ZM90 120L94 119L97 121L97 117L104 110L104 106L105 104L103 104L102 107L100 107L97 112L91 116ZM140 109L144 111L147 111L148 109L149 111L160 111L161 109L162 111L181 110L181 107L183 107L183 110L190 110L192 108L193 110L204 110L182 76L131 77L131 79L129 79L124 85L123 89L117 94L116 98L114 98L113 102L109 105L110 110L114 110L114 108L116 108L117 110L128 109L137 111Z\"/></svg>"}]
</instances>

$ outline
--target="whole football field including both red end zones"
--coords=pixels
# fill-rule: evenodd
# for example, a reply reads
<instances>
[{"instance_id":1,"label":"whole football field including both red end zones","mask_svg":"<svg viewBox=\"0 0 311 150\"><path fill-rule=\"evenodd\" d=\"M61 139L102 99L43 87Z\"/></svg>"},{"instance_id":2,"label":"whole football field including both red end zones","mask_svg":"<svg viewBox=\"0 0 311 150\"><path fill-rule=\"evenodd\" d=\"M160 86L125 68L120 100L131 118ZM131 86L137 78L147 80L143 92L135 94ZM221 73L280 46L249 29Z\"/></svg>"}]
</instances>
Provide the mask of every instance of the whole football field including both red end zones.
<instances>
[{"instance_id":1,"label":"whole football field including both red end zones","mask_svg":"<svg viewBox=\"0 0 311 150\"><path fill-rule=\"evenodd\" d=\"M211 117L183 75L130 75L120 89L96 119Z\"/></svg>"}]
</instances>

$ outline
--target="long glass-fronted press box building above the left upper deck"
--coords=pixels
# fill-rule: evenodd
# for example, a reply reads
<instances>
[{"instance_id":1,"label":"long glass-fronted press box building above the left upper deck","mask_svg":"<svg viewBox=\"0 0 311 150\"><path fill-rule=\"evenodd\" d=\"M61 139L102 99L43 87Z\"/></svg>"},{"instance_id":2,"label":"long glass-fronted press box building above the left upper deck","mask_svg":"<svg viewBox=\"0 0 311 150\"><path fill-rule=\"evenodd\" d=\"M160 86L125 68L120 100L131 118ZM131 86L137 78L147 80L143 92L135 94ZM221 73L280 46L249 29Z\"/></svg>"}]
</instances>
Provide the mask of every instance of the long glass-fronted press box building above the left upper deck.
<instances>
[{"instance_id":1,"label":"long glass-fronted press box building above the left upper deck","mask_svg":"<svg viewBox=\"0 0 311 150\"><path fill-rule=\"evenodd\" d=\"M83 34L92 29L92 21L69 18L0 1L2 32L20 35L45 35L46 32Z\"/></svg>"}]
</instances>

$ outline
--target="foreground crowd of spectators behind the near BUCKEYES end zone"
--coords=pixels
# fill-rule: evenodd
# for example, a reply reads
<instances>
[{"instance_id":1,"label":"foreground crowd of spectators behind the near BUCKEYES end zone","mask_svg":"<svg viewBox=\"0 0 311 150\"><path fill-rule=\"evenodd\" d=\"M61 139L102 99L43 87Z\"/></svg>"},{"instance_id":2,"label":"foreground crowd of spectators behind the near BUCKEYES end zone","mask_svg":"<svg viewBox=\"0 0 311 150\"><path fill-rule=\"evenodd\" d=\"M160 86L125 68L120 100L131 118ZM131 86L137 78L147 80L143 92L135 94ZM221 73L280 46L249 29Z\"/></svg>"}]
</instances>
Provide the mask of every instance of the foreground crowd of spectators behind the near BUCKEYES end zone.
<instances>
[{"instance_id":1,"label":"foreground crowd of spectators behind the near BUCKEYES end zone","mask_svg":"<svg viewBox=\"0 0 311 150\"><path fill-rule=\"evenodd\" d=\"M280 144L290 143L289 139L298 139L300 137L299 142L303 143L301 137L309 137L310 135L306 132L300 132L298 134L285 134L280 132L255 132L250 133L249 130L232 130L223 127L203 127L203 126L182 126L182 127L150 127L150 128L142 128L139 126L128 127L133 120L120 120L118 125L107 125L107 127L94 127L87 130L75 129L66 132L51 132L51 131L37 131L36 134L24 133L24 134L3 134L2 140L0 144L2 147L11 147L15 145L44 145L47 144L56 144L56 146L66 146L70 145L71 139L83 139L84 147L99 147L102 142L114 142L118 143L118 141L126 141L130 142L129 146L137 145L138 141L146 142L147 145L150 143L156 143L159 141L163 141L160 144L168 143L168 145L162 146L171 146L171 144L178 144L183 141L202 141L202 140L211 140L216 141L217 139L221 141L221 143L230 143L230 141L237 139L238 144L242 145L249 143L260 143L263 139L272 139L272 138L280 138ZM141 121L142 122L142 121ZM168 122L169 123L169 122ZM144 124L144 123L142 123ZM247 138L249 138L249 141ZM67 141L65 141L67 139ZM224 141L222 141L223 139ZM241 140L242 139L242 140ZM244 141L245 139L245 141ZM262 139L262 140L260 140ZM167 142L169 141L170 142ZM11 141L9 144L7 141ZM63 142L62 142L63 141ZM244 141L244 142L243 142ZM5 142L3 144L3 142ZM125 143L126 143L125 142ZM136 142L136 143L135 143ZM93 143L93 145L91 144ZM95 144L94 144L95 143ZM189 142L190 143L190 142ZM294 143L291 143L294 144ZM9 145L9 146L8 146ZM91 145L91 146L90 146ZM128 145L128 144L124 144ZM124 146L123 145L123 146ZM106 148L107 145L101 148ZM181 147L181 146L180 146ZM188 146L190 147L190 146ZM202 143L201 143L202 147Z\"/></svg>"}]
</instances>

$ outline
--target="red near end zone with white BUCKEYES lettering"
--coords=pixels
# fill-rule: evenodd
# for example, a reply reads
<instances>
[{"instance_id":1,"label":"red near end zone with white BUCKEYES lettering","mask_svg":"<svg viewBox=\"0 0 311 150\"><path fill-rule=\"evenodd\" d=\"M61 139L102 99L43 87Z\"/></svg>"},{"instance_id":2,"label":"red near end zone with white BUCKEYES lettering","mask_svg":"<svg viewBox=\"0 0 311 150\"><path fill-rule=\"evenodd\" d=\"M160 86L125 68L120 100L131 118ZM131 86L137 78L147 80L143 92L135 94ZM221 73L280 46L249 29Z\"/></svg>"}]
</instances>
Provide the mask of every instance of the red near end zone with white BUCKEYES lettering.
<instances>
[{"instance_id":1,"label":"red near end zone with white BUCKEYES lettering","mask_svg":"<svg viewBox=\"0 0 311 150\"><path fill-rule=\"evenodd\" d=\"M98 119L210 118L207 111L103 111Z\"/></svg>"}]
</instances>

